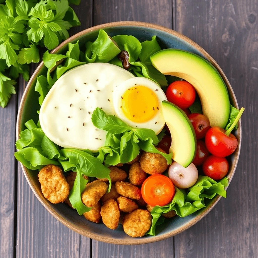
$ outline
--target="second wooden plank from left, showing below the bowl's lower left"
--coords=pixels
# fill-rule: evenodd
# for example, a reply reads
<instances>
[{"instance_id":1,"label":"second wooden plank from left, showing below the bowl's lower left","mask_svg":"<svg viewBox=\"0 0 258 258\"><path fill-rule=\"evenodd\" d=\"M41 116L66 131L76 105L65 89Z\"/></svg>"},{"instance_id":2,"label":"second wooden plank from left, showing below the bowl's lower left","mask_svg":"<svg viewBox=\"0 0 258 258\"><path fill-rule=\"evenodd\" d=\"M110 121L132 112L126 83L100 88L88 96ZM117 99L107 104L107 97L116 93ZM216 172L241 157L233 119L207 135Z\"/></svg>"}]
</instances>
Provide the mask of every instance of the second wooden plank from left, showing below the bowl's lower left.
<instances>
[{"instance_id":1,"label":"second wooden plank from left, showing below the bowl's lower left","mask_svg":"<svg viewBox=\"0 0 258 258\"><path fill-rule=\"evenodd\" d=\"M92 1L72 7L82 24L71 28L70 35L92 25ZM36 67L34 64L31 71ZM20 80L19 103L26 84ZM90 239L70 230L47 212L30 189L20 164L17 189L17 257L90 257Z\"/></svg>"}]
</instances>

